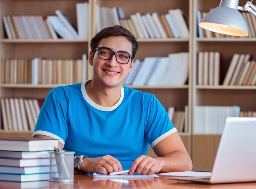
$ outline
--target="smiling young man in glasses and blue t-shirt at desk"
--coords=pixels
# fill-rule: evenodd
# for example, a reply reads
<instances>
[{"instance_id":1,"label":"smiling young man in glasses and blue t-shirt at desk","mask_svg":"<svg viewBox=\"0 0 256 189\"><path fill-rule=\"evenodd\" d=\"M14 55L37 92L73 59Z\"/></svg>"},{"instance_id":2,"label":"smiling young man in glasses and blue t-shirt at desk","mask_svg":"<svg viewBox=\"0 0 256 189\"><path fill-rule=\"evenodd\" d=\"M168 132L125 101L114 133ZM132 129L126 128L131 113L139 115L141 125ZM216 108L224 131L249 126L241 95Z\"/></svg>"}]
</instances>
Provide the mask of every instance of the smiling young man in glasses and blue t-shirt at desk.
<instances>
[{"instance_id":1,"label":"smiling young man in glasses and blue t-shirt at desk","mask_svg":"<svg viewBox=\"0 0 256 189\"><path fill-rule=\"evenodd\" d=\"M61 148L87 156L79 169L88 173L191 170L192 161L159 100L122 86L134 66L136 38L113 26L96 34L90 47L92 80L52 89L33 137L59 139ZM157 158L146 156L149 144Z\"/></svg>"}]
</instances>

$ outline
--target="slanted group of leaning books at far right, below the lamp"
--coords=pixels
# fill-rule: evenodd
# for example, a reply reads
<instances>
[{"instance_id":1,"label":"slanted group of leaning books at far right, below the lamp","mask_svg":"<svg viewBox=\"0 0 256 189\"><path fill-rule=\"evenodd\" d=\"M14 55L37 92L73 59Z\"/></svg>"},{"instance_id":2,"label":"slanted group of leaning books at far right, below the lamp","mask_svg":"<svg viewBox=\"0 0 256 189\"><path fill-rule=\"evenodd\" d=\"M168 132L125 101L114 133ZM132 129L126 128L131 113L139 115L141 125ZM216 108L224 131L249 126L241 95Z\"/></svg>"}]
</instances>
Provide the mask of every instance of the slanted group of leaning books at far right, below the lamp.
<instances>
[{"instance_id":1,"label":"slanted group of leaning books at far right, below the lamp","mask_svg":"<svg viewBox=\"0 0 256 189\"><path fill-rule=\"evenodd\" d=\"M256 85L256 63L251 54L233 54L223 85Z\"/></svg>"}]
</instances>

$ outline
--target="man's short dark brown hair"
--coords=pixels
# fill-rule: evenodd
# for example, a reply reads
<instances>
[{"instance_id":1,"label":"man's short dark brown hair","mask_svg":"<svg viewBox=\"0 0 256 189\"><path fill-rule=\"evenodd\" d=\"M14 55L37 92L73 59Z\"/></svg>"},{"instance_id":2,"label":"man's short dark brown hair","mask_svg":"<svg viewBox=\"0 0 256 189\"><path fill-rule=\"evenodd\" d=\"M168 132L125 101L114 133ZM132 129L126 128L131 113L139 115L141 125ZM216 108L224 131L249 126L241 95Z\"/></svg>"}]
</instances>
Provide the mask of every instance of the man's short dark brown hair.
<instances>
[{"instance_id":1,"label":"man's short dark brown hair","mask_svg":"<svg viewBox=\"0 0 256 189\"><path fill-rule=\"evenodd\" d=\"M110 36L123 36L123 37L126 37L129 41L131 41L131 44L132 44L131 55L134 59L135 54L139 48L139 44L136 40L136 37L134 37L134 35L131 34L131 32L128 29L118 25L107 27L99 31L90 41L91 51L94 53L94 49L96 49L99 46L100 40Z\"/></svg>"}]
</instances>

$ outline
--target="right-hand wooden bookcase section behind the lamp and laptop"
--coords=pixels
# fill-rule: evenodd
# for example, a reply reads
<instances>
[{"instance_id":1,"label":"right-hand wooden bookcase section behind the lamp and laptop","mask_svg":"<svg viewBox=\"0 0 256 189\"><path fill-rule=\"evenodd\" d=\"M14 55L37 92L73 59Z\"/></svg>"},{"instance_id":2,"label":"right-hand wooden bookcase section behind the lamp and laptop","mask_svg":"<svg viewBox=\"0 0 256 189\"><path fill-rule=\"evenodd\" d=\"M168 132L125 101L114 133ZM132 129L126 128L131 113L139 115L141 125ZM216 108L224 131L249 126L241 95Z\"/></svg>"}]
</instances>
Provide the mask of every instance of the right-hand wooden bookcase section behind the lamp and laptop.
<instances>
[{"instance_id":1,"label":"right-hand wooden bookcase section behind the lamp and laptop","mask_svg":"<svg viewBox=\"0 0 256 189\"><path fill-rule=\"evenodd\" d=\"M197 76L197 52L221 52L220 62L220 83L217 86L198 85L197 78L193 83L193 110L192 117L195 117L195 106L240 106L240 111L256 111L256 86L223 85L224 78L230 66L231 59L235 53L249 53L255 57L256 38L199 38L197 33L196 11L208 12L219 5L219 0L205 1L194 0L193 8L193 73ZM245 0L239 1L243 6ZM253 60L254 60L253 57ZM195 120L192 128L195 127ZM192 129L193 130L193 129ZM194 134L192 131L192 160L195 170L212 170L215 155L218 149L221 134Z\"/></svg>"}]
</instances>

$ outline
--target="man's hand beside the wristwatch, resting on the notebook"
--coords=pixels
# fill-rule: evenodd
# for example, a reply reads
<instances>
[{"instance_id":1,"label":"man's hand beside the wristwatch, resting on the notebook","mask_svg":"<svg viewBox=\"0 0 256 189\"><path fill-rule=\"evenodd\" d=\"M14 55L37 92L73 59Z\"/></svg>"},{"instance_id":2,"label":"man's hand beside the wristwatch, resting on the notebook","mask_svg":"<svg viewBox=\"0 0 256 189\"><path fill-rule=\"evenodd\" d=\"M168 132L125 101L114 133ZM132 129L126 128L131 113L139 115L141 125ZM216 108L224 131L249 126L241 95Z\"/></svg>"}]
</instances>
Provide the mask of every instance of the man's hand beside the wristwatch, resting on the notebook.
<instances>
[{"instance_id":1,"label":"man's hand beside the wristwatch, resting on the notebook","mask_svg":"<svg viewBox=\"0 0 256 189\"><path fill-rule=\"evenodd\" d=\"M88 173L102 172L104 175L122 169L122 165L111 155L100 158L84 158L81 169Z\"/></svg>"}]
</instances>

